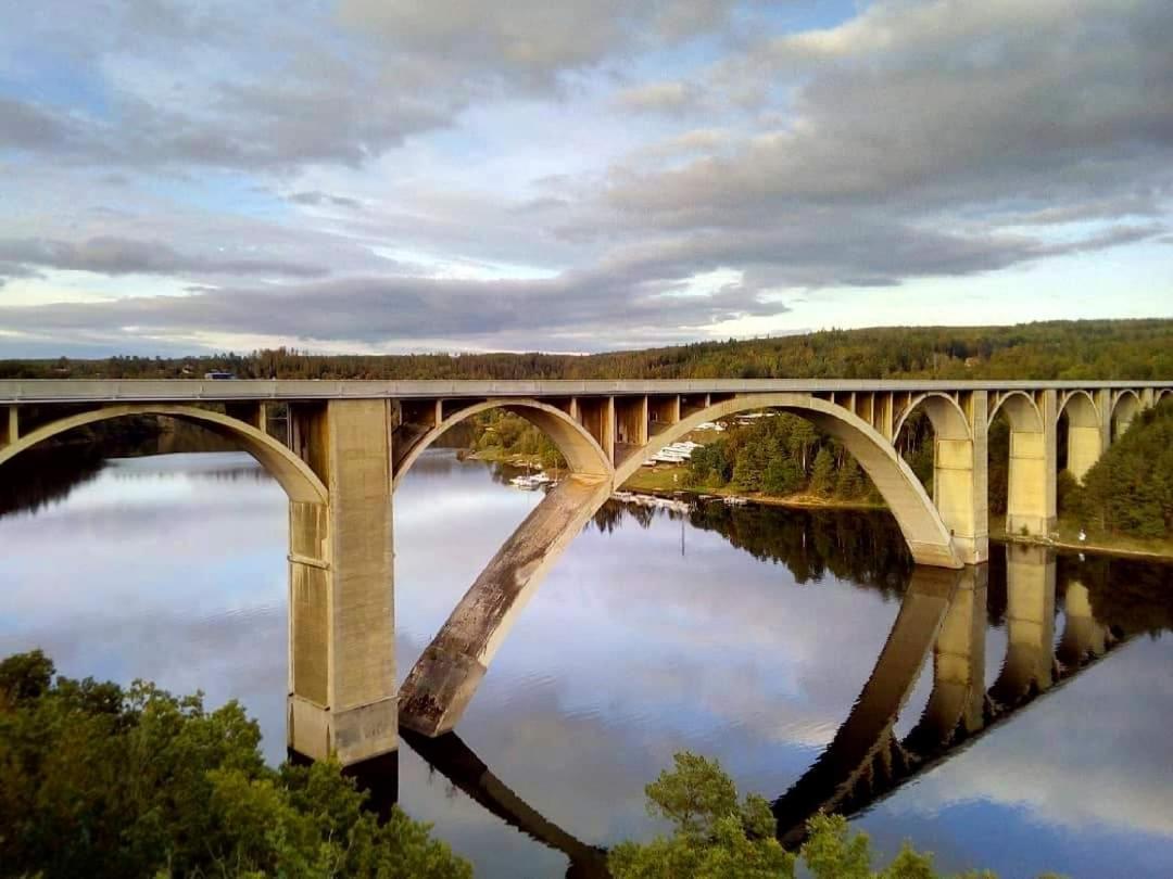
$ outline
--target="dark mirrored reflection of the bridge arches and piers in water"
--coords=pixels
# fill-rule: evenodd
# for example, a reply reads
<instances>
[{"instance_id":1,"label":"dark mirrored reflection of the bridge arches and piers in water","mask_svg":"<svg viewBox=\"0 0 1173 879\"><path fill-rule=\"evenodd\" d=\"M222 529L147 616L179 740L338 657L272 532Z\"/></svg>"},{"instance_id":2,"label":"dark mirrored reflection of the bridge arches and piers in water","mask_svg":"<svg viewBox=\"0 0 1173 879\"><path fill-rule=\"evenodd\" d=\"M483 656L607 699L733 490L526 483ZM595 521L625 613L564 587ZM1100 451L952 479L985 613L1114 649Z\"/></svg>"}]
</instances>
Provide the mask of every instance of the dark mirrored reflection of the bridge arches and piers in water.
<instances>
[{"instance_id":1,"label":"dark mirrored reflection of the bridge arches and piers in water","mask_svg":"<svg viewBox=\"0 0 1173 879\"><path fill-rule=\"evenodd\" d=\"M1128 625L1130 608L1140 612L1138 618L1152 619L1139 606L1144 598L1138 602L1137 595L1132 604L1110 606L1097 615L1097 604L1108 605L1106 560L1059 560L1040 546L1009 545L1003 553L1006 592L992 601L989 566L911 568L896 621L854 707L814 764L773 803L784 845L801 844L813 815L852 816L867 809L1104 661L1137 633ZM1001 564L996 558L995 565ZM1004 612L997 607L1002 600ZM1058 639L1057 604L1064 618ZM988 687L986 624L1003 613L1006 652ZM928 702L916 724L901 736L901 710L930 657ZM455 732L430 738L405 731L404 741L489 813L562 852L569 861L567 877L609 875L605 849L545 818L538 804L514 792ZM360 781L379 789L377 781L373 785L371 779ZM386 788L382 800L387 802Z\"/></svg>"}]
</instances>

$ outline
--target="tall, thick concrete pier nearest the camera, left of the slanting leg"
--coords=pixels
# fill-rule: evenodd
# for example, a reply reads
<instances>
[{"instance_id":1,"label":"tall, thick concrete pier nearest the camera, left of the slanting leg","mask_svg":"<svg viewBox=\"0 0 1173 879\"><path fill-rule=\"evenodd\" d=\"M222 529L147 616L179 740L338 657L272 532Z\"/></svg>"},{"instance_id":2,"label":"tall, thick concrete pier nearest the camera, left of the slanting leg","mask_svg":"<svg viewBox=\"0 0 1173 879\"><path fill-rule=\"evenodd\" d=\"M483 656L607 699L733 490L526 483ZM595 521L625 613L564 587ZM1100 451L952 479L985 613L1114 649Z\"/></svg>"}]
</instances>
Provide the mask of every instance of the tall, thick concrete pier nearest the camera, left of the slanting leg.
<instances>
[{"instance_id":1,"label":"tall, thick concrete pier nearest the camera, left of the slanting leg","mask_svg":"<svg viewBox=\"0 0 1173 879\"><path fill-rule=\"evenodd\" d=\"M290 504L289 744L344 765L398 745L388 402L290 408L325 505Z\"/></svg>"}]
</instances>

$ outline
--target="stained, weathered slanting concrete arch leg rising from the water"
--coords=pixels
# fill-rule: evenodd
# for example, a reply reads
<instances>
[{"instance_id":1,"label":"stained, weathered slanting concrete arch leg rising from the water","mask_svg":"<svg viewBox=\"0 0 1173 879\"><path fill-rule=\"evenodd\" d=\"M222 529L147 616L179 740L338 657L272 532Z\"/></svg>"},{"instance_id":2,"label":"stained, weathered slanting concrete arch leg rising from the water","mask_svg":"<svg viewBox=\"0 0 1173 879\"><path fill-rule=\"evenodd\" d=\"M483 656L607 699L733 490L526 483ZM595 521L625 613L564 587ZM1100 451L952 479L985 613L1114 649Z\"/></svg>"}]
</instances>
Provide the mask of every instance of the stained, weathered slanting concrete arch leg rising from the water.
<instances>
[{"instance_id":1,"label":"stained, weathered slanting concrete arch leg rising from the water","mask_svg":"<svg viewBox=\"0 0 1173 879\"><path fill-rule=\"evenodd\" d=\"M400 693L400 723L428 736L456 725L517 614L610 493L609 478L578 475L547 493L412 668Z\"/></svg>"}]
</instances>

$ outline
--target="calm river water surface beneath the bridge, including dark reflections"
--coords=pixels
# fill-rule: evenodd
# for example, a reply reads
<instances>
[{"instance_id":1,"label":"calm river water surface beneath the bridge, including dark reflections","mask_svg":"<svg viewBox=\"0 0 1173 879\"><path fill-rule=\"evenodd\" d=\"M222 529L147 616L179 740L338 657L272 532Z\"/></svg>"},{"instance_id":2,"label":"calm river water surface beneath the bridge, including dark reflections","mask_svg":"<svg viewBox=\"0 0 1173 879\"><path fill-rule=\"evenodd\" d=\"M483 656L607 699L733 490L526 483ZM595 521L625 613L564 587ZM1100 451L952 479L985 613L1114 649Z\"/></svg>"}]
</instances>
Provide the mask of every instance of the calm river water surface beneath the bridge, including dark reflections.
<instances>
[{"instance_id":1,"label":"calm river water surface beneath the bridge, including dark reflections","mask_svg":"<svg viewBox=\"0 0 1173 879\"><path fill-rule=\"evenodd\" d=\"M490 468L434 450L396 493L400 677L540 499L500 483ZM240 699L280 759L280 489L230 452L109 461L22 492L46 503L0 505L0 654L40 646L65 674ZM888 853L911 838L948 870L1173 874L1171 568L995 557L984 595L969 594L984 598L976 665L997 696L978 710L1004 720L894 790L882 772L866 774L856 804L882 796L855 825ZM1039 629L1042 618L1023 622L1023 584L1046 582L1047 564L1056 609L1044 602ZM561 877L565 852L574 874L595 875L594 846L660 830L643 786L682 749L719 757L745 791L775 798L806 776L800 790L823 796L819 771L834 782L835 755L860 744L836 732L861 715L853 706L903 597L921 588L910 577L884 516L712 506L685 519L609 505L522 614L459 740L419 745L428 759L401 749L400 802L477 875ZM1062 643L1077 628L1064 608L1079 595L1097 618L1092 641L1107 649L1082 670ZM1037 682L1002 674L1008 645L1021 660L1032 625L1035 641L1066 657L1044 657L1039 674L1063 682L1037 699ZM897 737L923 731L933 666L930 652L908 680ZM876 681L890 684L895 667L886 661Z\"/></svg>"}]
</instances>

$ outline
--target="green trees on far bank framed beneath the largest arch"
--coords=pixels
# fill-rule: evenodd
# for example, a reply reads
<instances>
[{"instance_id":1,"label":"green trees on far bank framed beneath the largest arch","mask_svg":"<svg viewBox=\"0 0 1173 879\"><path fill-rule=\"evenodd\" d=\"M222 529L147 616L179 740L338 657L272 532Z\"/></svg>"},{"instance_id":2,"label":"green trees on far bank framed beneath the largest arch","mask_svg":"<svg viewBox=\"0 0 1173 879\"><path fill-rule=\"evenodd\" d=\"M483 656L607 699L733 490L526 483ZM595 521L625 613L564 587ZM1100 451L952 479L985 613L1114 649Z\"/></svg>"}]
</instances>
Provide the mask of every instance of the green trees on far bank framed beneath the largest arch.
<instances>
[{"instance_id":1,"label":"green trees on far bank framed beneath the largest arch","mask_svg":"<svg viewBox=\"0 0 1173 879\"><path fill-rule=\"evenodd\" d=\"M731 427L694 449L686 484L774 497L811 495L880 502L880 495L847 448L796 415L767 414Z\"/></svg>"}]
</instances>

